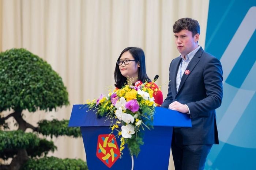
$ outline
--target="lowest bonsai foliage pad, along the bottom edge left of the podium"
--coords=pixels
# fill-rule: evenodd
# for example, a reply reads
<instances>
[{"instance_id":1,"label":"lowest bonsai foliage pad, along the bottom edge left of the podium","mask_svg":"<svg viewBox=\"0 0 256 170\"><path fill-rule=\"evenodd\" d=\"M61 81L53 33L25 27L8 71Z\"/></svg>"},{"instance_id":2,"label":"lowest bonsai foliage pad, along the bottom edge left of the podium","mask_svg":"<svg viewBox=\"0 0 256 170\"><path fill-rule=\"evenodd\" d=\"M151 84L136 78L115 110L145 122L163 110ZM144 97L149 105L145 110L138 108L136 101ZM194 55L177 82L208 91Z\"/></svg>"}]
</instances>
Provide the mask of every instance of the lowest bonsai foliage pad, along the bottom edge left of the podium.
<instances>
[{"instance_id":1,"label":"lowest bonsai foliage pad, along the bottom edge left of the podium","mask_svg":"<svg viewBox=\"0 0 256 170\"><path fill-rule=\"evenodd\" d=\"M21 170L88 170L85 162L81 159L59 159L44 157L41 159L29 159Z\"/></svg>"}]
</instances>

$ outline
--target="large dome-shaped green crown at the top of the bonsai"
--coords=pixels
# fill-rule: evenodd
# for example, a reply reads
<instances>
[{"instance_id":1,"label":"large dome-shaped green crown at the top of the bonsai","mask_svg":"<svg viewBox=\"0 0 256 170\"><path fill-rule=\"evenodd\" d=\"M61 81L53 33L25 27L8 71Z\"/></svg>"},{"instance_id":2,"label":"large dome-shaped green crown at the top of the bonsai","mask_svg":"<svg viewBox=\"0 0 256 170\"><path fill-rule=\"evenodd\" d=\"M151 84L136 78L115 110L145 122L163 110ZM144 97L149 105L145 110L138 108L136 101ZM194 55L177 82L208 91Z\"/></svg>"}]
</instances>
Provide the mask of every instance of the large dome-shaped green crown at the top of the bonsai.
<instances>
[{"instance_id":1,"label":"large dome-shaped green crown at the top of the bonsai","mask_svg":"<svg viewBox=\"0 0 256 170\"><path fill-rule=\"evenodd\" d=\"M52 67L25 49L0 53L0 112L52 111L68 105L68 92Z\"/></svg>"}]
</instances>

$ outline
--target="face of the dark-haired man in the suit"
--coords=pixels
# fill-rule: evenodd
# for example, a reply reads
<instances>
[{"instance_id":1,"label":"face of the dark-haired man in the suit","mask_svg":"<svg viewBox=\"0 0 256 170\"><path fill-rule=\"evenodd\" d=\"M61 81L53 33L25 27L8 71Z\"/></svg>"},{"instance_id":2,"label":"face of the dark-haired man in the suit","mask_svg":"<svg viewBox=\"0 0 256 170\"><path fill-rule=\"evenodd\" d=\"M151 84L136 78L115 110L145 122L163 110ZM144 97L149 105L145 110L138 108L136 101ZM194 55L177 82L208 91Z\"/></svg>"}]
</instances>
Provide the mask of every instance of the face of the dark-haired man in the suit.
<instances>
[{"instance_id":1,"label":"face of the dark-haired man in the suit","mask_svg":"<svg viewBox=\"0 0 256 170\"><path fill-rule=\"evenodd\" d=\"M176 47L181 55L186 56L198 47L197 41L199 40L199 34L192 36L191 31L181 30L178 33L174 33L174 36Z\"/></svg>"}]
</instances>

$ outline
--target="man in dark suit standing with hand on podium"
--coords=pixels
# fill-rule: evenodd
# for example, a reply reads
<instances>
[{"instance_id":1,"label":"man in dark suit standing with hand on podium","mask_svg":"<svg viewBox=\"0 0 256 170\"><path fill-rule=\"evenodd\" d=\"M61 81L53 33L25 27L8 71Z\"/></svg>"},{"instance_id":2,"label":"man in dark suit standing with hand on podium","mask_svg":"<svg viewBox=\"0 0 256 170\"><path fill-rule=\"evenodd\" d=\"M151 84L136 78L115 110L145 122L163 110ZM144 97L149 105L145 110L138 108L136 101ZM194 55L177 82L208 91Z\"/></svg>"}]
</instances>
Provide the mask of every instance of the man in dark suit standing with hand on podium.
<instances>
[{"instance_id":1,"label":"man in dark suit standing with hand on podium","mask_svg":"<svg viewBox=\"0 0 256 170\"><path fill-rule=\"evenodd\" d=\"M212 144L218 144L215 109L222 101L222 66L198 45L197 20L173 25L180 56L169 68L169 88L162 107L188 114L192 127L174 127L172 154L176 170L203 170Z\"/></svg>"}]
</instances>

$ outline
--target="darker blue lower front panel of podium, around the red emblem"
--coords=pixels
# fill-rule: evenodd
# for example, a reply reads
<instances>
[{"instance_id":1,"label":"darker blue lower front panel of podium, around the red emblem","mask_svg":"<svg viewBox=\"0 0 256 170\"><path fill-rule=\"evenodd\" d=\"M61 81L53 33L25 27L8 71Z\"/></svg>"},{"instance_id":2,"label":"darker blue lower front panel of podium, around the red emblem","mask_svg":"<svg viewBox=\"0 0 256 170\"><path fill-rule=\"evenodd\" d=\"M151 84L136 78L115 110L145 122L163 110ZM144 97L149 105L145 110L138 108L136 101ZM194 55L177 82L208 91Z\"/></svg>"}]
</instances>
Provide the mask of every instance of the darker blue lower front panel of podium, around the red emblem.
<instances>
[{"instance_id":1,"label":"darker blue lower front panel of podium, around the red emblem","mask_svg":"<svg viewBox=\"0 0 256 170\"><path fill-rule=\"evenodd\" d=\"M167 170L172 141L172 127L155 127L144 133L144 145L140 147L138 158L134 158L134 170ZM81 127L86 160L89 170L131 170L132 159L128 148L123 150L123 157L118 159L111 168L108 168L96 157L98 135L109 134L108 127ZM117 132L114 132L116 135ZM118 146L120 140L117 138Z\"/></svg>"}]
</instances>

